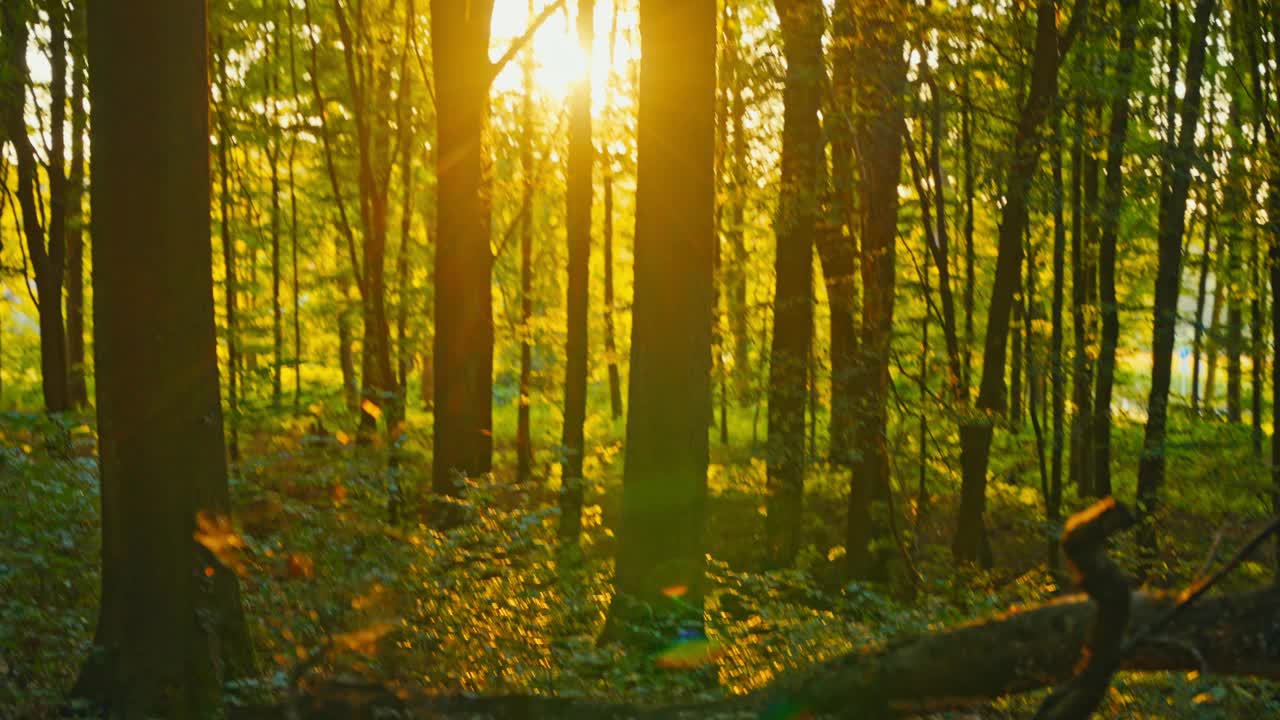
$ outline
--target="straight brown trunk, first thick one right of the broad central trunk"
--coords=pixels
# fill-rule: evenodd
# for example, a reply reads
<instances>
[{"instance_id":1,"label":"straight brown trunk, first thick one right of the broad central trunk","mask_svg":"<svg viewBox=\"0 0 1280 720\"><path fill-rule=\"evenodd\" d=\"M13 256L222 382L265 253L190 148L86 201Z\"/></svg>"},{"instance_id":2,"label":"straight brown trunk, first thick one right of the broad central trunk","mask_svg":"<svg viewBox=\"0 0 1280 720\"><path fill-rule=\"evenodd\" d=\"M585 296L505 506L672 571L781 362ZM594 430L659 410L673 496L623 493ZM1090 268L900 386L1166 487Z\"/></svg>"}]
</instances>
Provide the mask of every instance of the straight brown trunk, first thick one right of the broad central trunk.
<instances>
[{"instance_id":1,"label":"straight brown trunk, first thick one right of the broad central trunk","mask_svg":"<svg viewBox=\"0 0 1280 720\"><path fill-rule=\"evenodd\" d=\"M813 341L813 237L818 227L826 72L824 12L818 0L777 0L782 22L785 120L782 190L774 222L773 345L769 352L769 450L765 536L771 561L800 550L804 501L806 365Z\"/></svg>"}]
</instances>

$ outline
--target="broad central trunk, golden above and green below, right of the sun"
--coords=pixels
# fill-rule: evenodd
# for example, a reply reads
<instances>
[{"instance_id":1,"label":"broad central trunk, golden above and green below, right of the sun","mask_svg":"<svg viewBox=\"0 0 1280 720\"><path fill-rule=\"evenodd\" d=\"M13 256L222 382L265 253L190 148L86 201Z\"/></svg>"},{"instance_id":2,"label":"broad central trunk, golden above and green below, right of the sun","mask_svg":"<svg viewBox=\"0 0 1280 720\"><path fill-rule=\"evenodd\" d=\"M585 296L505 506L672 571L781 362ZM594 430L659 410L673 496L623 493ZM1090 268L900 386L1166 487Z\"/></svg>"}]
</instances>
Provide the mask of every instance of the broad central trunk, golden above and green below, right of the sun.
<instances>
[{"instance_id":1,"label":"broad central trunk, golden above and green below, right of the sun","mask_svg":"<svg viewBox=\"0 0 1280 720\"><path fill-rule=\"evenodd\" d=\"M716 3L640 1L635 305L617 594L701 624L714 254ZM664 592L666 591L666 592Z\"/></svg>"}]
</instances>

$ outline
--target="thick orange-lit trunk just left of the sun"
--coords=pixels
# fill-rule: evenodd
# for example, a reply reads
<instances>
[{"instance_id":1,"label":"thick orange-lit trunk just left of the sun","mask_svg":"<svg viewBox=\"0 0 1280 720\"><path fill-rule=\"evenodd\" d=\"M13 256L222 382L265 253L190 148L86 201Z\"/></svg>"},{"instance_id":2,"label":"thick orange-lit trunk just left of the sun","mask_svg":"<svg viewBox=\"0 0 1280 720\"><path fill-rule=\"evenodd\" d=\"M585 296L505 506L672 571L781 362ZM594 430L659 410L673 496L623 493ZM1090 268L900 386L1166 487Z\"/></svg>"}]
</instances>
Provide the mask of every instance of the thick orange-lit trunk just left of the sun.
<instances>
[{"instance_id":1,"label":"thick orange-lit trunk just left of the sun","mask_svg":"<svg viewBox=\"0 0 1280 720\"><path fill-rule=\"evenodd\" d=\"M493 254L483 129L493 0L431 0L438 141L435 451L431 487L457 495L493 455Z\"/></svg>"}]
</instances>

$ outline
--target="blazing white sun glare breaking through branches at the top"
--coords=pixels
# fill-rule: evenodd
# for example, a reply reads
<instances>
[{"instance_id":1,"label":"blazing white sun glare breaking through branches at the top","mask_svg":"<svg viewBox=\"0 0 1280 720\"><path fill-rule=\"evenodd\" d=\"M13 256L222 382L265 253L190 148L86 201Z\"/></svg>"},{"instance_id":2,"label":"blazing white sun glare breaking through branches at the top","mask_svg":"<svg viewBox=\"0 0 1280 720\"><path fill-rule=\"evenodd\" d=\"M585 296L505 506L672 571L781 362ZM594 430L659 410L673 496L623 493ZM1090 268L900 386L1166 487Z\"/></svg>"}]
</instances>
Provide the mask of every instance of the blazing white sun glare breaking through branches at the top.
<instances>
[{"instance_id":1,"label":"blazing white sun glare breaking through branches at the top","mask_svg":"<svg viewBox=\"0 0 1280 720\"><path fill-rule=\"evenodd\" d=\"M529 12L529 0L495 0L493 9L493 32L490 58L497 59L511 42L524 35L541 9L554 0L534 0L534 12ZM594 111L603 106L600 100L609 77L609 29L613 24L614 5L617 5L617 37L613 54L613 72L621 72L630 60L639 56L635 45L637 18L631 3L626 0L599 0L595 3L595 42L591 49L591 105ZM573 83L586 70L588 53L577 41L576 26L577 3L567 0L562 10L556 12L532 38L534 83L539 94L556 101L568 97ZM520 63L512 61L494 79L494 90L512 92L521 90Z\"/></svg>"}]
</instances>

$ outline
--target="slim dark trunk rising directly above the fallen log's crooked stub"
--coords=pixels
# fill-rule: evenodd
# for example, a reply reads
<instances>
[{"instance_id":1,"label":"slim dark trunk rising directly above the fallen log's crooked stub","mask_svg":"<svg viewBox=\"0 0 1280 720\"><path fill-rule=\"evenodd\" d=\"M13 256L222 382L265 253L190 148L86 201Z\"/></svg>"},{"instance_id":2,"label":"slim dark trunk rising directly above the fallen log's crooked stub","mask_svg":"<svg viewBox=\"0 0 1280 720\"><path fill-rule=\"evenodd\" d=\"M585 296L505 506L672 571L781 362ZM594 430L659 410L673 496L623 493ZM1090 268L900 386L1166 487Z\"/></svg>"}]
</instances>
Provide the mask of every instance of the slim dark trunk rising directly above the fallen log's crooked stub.
<instances>
[{"instance_id":1,"label":"slim dark trunk rising directly above the fallen log's crooked stub","mask_svg":"<svg viewBox=\"0 0 1280 720\"><path fill-rule=\"evenodd\" d=\"M1106 188L1102 199L1102 234L1098 243L1098 305L1102 338L1098 345L1098 391L1093 401L1093 491L1111 495L1111 388L1115 384L1116 347L1120 343L1120 307L1116 301L1116 238L1124 205L1125 141L1129 133L1129 88L1133 83L1134 45L1139 0L1120 0L1120 58L1116 61L1111 127L1107 131Z\"/></svg>"}]
</instances>

